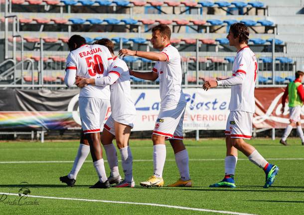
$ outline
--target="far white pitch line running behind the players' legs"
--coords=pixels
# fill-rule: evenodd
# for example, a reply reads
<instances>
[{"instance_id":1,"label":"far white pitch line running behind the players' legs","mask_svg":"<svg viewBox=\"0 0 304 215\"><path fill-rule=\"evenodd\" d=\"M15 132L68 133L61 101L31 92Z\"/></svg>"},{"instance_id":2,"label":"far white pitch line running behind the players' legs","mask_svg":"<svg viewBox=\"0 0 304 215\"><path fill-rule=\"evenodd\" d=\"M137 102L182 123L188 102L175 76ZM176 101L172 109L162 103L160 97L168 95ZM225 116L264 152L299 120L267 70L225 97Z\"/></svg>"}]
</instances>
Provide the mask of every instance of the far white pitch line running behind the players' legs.
<instances>
[{"instance_id":1,"label":"far white pitch line running behind the players' legs","mask_svg":"<svg viewBox=\"0 0 304 215\"><path fill-rule=\"evenodd\" d=\"M247 161L247 158L240 158L238 161ZM285 161L285 160L304 160L304 158L266 158L266 160ZM153 160L133 160L133 162L150 162ZM166 161L175 161L168 159ZM189 161L224 161L224 159L189 159ZM91 162L92 161L85 161ZM105 162L108 162L105 160ZM121 162L121 161L120 161ZM74 163L74 161L0 161L0 164L39 164L39 163Z\"/></svg>"}]
</instances>

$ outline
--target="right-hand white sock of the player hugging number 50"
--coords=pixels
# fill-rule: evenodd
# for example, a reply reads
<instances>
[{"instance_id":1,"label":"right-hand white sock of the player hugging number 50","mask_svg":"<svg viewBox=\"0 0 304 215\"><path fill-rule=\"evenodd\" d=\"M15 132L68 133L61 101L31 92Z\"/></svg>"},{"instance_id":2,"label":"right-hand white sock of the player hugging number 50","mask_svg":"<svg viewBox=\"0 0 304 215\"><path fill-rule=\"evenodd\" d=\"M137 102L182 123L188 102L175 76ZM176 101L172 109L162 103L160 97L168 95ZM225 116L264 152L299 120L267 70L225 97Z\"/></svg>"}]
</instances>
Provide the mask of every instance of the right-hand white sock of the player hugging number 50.
<instances>
[{"instance_id":1,"label":"right-hand white sock of the player hugging number 50","mask_svg":"<svg viewBox=\"0 0 304 215\"><path fill-rule=\"evenodd\" d=\"M133 157L129 146L119 150L122 157L122 166L125 173L126 182L132 182Z\"/></svg>"}]
</instances>

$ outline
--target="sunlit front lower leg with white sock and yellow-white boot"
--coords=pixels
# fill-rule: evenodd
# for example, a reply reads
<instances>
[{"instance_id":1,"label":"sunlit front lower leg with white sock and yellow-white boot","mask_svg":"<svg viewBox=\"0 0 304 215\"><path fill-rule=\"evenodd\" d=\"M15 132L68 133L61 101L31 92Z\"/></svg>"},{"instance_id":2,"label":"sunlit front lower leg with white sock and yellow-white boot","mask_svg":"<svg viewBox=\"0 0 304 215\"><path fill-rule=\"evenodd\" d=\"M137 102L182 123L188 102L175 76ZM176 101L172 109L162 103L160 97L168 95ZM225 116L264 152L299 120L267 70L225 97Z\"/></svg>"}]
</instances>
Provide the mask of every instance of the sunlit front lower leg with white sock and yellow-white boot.
<instances>
[{"instance_id":1,"label":"sunlit front lower leg with white sock and yellow-white boot","mask_svg":"<svg viewBox=\"0 0 304 215\"><path fill-rule=\"evenodd\" d=\"M163 136L152 134L154 173L146 182L140 183L143 187L163 186L162 171L166 160L166 146L164 139L165 137Z\"/></svg>"}]
</instances>

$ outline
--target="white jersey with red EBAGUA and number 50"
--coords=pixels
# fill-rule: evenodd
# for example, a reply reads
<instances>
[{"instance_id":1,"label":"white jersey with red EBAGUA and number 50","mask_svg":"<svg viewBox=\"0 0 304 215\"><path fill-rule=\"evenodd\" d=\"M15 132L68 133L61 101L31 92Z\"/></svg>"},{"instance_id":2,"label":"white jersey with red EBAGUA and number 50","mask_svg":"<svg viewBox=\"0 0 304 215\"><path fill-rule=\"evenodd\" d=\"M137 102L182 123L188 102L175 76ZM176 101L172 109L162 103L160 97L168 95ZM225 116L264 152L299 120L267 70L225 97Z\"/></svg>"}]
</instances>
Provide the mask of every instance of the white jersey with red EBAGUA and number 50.
<instances>
[{"instance_id":1,"label":"white jersey with red EBAGUA and number 50","mask_svg":"<svg viewBox=\"0 0 304 215\"><path fill-rule=\"evenodd\" d=\"M71 51L67 57L65 83L68 86L74 84L75 76L85 78L105 76L112 61L112 55L106 46L84 44ZM87 85L80 89L79 97L110 100L110 87Z\"/></svg>"}]
</instances>

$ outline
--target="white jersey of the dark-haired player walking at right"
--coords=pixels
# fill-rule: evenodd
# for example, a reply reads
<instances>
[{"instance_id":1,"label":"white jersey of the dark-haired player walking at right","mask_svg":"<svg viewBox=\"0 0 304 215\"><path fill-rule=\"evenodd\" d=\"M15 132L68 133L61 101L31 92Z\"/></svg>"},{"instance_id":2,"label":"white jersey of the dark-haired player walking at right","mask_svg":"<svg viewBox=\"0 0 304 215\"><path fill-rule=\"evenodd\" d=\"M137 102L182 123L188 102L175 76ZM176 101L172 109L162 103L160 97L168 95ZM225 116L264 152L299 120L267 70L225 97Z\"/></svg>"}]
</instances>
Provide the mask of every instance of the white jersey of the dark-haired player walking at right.
<instances>
[{"instance_id":1,"label":"white jersey of the dark-haired player walking at right","mask_svg":"<svg viewBox=\"0 0 304 215\"><path fill-rule=\"evenodd\" d=\"M237 52L232 78L217 81L219 86L232 86L229 110L255 112L254 88L258 63L255 54L246 46ZM239 78L239 79L237 79Z\"/></svg>"}]
</instances>

